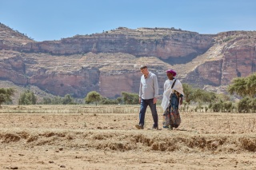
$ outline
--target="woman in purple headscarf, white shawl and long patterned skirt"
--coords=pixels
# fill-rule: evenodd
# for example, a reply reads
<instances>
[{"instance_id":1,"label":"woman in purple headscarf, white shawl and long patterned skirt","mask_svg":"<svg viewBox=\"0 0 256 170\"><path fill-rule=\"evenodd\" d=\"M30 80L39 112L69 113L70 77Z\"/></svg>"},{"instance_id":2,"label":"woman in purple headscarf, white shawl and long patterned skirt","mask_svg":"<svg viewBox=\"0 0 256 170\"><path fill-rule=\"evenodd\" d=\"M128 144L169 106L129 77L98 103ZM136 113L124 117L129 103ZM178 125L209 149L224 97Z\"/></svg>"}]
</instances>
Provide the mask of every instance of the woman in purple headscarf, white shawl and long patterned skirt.
<instances>
[{"instance_id":1,"label":"woman in purple headscarf, white shawl and long patterned skirt","mask_svg":"<svg viewBox=\"0 0 256 170\"><path fill-rule=\"evenodd\" d=\"M184 96L182 83L175 79L176 72L173 69L166 71L168 80L164 84L164 93L162 99L163 128L178 128L181 124L181 117L178 112L178 106L182 105L182 97Z\"/></svg>"}]
</instances>

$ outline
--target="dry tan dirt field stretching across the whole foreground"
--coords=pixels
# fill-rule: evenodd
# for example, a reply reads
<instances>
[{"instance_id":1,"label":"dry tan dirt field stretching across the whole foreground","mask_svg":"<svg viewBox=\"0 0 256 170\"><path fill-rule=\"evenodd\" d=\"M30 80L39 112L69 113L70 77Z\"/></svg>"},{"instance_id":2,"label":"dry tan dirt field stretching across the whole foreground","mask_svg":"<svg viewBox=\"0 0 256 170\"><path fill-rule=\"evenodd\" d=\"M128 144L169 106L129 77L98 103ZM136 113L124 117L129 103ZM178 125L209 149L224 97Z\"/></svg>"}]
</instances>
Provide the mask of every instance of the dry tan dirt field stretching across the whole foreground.
<instances>
[{"instance_id":1,"label":"dry tan dirt field stretching across the whole foreground","mask_svg":"<svg viewBox=\"0 0 256 170\"><path fill-rule=\"evenodd\" d=\"M256 169L256 114L181 113L170 131L147 110L138 130L138 108L3 105L0 169Z\"/></svg>"}]
</instances>

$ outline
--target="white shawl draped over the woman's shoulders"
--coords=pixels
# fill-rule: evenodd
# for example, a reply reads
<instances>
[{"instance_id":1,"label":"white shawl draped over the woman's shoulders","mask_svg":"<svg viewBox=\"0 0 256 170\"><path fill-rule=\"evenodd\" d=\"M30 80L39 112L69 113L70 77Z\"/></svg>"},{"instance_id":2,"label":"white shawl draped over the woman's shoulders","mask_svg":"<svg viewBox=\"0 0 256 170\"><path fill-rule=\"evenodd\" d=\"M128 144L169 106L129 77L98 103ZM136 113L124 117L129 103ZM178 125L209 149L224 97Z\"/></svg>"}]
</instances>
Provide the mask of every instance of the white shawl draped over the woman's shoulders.
<instances>
[{"instance_id":1,"label":"white shawl draped over the woman's shoulders","mask_svg":"<svg viewBox=\"0 0 256 170\"><path fill-rule=\"evenodd\" d=\"M173 89L171 89L171 86L173 85L174 80L176 80L176 82ZM170 102L170 94L174 93L174 90L176 90L178 93L181 93L184 96L181 81L178 81L177 79L174 79L174 80L166 80L164 84L164 93L163 93L162 104L161 104L163 110L166 110L166 108L168 107Z\"/></svg>"}]
</instances>

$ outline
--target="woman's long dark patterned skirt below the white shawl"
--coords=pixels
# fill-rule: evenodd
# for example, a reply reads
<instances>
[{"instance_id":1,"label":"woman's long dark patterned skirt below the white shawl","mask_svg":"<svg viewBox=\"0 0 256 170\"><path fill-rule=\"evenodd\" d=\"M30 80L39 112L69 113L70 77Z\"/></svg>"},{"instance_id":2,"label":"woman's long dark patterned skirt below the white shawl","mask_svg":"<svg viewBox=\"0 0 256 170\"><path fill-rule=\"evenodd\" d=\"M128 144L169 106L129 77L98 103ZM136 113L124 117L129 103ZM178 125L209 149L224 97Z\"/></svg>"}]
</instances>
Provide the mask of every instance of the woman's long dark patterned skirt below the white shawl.
<instances>
[{"instance_id":1,"label":"woman's long dark patterned skirt below the white shawl","mask_svg":"<svg viewBox=\"0 0 256 170\"><path fill-rule=\"evenodd\" d=\"M178 112L179 97L176 93L170 95L170 103L163 114L163 128L178 128L182 120Z\"/></svg>"}]
</instances>

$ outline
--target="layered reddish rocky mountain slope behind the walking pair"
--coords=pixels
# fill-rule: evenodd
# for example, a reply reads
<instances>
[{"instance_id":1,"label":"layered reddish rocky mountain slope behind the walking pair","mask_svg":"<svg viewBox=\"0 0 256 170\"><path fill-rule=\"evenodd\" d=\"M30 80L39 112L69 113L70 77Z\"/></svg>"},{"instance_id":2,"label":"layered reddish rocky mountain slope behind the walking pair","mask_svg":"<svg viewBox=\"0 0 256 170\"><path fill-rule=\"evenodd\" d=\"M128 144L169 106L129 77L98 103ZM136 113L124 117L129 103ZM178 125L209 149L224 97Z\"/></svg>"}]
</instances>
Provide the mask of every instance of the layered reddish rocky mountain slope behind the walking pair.
<instances>
[{"instance_id":1,"label":"layered reddish rocky mountain slope behind the walking pair","mask_svg":"<svg viewBox=\"0 0 256 170\"><path fill-rule=\"evenodd\" d=\"M122 91L138 93L138 67L146 64L158 75L160 93L169 68L177 70L182 82L217 90L255 72L255 42L255 31L208 35L125 27L34 42L0 24L0 80L58 96L85 97L96 90L117 97Z\"/></svg>"}]
</instances>

